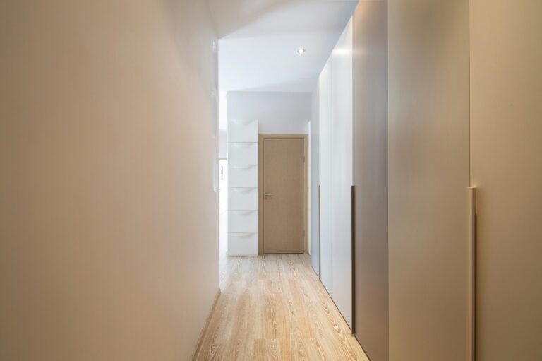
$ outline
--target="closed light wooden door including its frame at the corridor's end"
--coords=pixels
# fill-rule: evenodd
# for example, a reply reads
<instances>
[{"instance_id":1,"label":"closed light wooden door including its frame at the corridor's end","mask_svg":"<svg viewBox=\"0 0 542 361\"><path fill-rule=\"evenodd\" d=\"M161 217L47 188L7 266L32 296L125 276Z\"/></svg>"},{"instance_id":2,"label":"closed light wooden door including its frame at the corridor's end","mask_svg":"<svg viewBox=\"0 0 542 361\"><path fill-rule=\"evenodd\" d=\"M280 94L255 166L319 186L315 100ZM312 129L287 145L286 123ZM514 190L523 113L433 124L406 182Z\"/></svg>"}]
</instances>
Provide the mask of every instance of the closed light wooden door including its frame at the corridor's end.
<instances>
[{"instance_id":1,"label":"closed light wooden door including its frame at the corridor's end","mask_svg":"<svg viewBox=\"0 0 542 361\"><path fill-rule=\"evenodd\" d=\"M260 141L262 253L304 253L306 138L263 136Z\"/></svg>"}]
</instances>

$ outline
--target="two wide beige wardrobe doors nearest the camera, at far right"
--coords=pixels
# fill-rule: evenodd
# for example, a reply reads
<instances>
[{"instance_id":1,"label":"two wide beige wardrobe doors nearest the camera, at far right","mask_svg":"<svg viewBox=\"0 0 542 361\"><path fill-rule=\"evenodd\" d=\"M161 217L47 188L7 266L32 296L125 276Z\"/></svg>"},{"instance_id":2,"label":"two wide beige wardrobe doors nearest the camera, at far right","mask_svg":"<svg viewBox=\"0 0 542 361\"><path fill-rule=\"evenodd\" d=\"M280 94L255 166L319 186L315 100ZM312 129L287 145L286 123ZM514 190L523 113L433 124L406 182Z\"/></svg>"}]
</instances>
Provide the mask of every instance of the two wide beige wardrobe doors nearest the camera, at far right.
<instances>
[{"instance_id":1,"label":"two wide beige wardrobe doors nearest the camera, at far right","mask_svg":"<svg viewBox=\"0 0 542 361\"><path fill-rule=\"evenodd\" d=\"M542 2L388 4L390 360L542 360Z\"/></svg>"}]
</instances>

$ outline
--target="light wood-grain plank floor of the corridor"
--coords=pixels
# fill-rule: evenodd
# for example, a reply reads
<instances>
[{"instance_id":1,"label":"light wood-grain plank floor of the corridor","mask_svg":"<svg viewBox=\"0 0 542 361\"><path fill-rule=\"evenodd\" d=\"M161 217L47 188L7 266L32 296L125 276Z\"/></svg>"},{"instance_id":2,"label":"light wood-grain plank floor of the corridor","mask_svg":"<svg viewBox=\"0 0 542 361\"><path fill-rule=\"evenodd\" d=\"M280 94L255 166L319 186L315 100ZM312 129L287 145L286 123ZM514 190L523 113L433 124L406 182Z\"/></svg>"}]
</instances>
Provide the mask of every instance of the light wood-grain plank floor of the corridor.
<instances>
[{"instance_id":1,"label":"light wood-grain plank floor of the corridor","mask_svg":"<svg viewBox=\"0 0 542 361\"><path fill-rule=\"evenodd\" d=\"M368 358L307 255L227 257L198 360Z\"/></svg>"}]
</instances>

